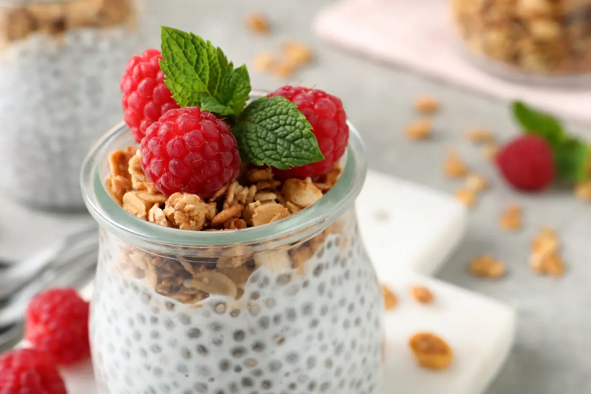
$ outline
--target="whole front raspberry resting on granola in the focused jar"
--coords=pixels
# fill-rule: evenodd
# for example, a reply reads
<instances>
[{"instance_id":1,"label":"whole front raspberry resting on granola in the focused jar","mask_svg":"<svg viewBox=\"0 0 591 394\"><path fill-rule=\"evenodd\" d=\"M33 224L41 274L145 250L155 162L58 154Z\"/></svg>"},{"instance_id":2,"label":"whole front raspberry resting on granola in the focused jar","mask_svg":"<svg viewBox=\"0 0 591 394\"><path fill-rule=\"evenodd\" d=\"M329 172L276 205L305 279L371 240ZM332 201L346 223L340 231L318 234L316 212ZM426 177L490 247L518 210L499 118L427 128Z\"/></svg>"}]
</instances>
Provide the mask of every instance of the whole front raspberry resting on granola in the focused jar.
<instances>
[{"instance_id":1,"label":"whole front raspberry resting on granola in the focused jar","mask_svg":"<svg viewBox=\"0 0 591 394\"><path fill-rule=\"evenodd\" d=\"M161 193L207 198L238 175L240 155L228 125L199 107L171 109L142 139L142 168Z\"/></svg>"}]
</instances>

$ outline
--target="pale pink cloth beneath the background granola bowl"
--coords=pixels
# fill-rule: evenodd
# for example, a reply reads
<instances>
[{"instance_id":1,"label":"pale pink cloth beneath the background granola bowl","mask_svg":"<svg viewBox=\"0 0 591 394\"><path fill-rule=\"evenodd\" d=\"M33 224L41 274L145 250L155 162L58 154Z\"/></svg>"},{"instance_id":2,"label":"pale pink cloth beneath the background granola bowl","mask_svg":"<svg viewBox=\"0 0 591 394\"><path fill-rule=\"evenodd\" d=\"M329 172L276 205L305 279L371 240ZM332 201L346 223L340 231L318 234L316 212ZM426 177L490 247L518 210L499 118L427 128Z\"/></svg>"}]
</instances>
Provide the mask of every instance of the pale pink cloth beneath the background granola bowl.
<instances>
[{"instance_id":1,"label":"pale pink cloth beneath the background granola bowl","mask_svg":"<svg viewBox=\"0 0 591 394\"><path fill-rule=\"evenodd\" d=\"M316 16L313 28L323 40L376 60L487 96L522 99L548 112L591 122L590 89L513 83L474 67L457 50L450 4L450 0L339 0Z\"/></svg>"}]
</instances>

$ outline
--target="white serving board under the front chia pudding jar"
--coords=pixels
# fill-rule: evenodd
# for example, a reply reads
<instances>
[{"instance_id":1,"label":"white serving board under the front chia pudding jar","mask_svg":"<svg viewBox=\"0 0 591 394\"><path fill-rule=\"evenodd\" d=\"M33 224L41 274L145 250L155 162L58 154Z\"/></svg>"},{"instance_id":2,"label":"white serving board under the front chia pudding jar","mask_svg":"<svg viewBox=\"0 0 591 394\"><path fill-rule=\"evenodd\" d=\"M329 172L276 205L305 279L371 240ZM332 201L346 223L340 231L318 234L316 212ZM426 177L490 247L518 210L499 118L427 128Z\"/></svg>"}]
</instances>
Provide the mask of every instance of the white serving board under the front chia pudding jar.
<instances>
[{"instance_id":1,"label":"white serving board under the front chia pudding jar","mask_svg":"<svg viewBox=\"0 0 591 394\"><path fill-rule=\"evenodd\" d=\"M388 196L388 201L375 196ZM385 205L387 203L387 205ZM357 202L359 223L379 278L398 295L399 306L386 320L387 359L383 394L479 394L502 366L513 343L514 312L505 305L429 278L459 245L466 229L467 212L452 197L417 184L370 171ZM387 214L384 214L387 213ZM34 213L27 213L28 219ZM21 214L22 217L22 214ZM9 218L10 219L10 218ZM43 230L50 226L44 216ZM85 224L82 218L60 222L59 235ZM11 220L0 224L7 226ZM0 227L1 230L7 230ZM4 232L3 232L4 233ZM12 242L31 245L30 229ZM0 251L8 245L0 236ZM47 242L47 234L42 237ZM23 245L12 245L12 250ZM408 289L427 285L436 302L414 302ZM92 286L83 294L89 297ZM449 341L455 353L452 366L433 372L418 367L408 337L433 331ZM484 339L483 339L484 338ZM63 370L70 394L96 394L89 363ZM113 393L118 394L118 393Z\"/></svg>"}]
</instances>

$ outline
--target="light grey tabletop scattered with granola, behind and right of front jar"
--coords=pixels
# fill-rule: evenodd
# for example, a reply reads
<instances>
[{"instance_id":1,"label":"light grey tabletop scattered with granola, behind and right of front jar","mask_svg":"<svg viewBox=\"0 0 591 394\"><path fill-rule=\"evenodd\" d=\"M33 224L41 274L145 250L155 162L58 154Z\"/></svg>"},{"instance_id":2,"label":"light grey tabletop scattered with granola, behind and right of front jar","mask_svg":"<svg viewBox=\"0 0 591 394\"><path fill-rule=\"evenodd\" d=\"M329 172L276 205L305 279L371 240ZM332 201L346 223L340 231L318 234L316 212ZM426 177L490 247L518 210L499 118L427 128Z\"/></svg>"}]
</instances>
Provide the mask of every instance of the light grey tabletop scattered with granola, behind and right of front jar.
<instances>
[{"instance_id":1,"label":"light grey tabletop scattered with granola, behind and right of front jar","mask_svg":"<svg viewBox=\"0 0 591 394\"><path fill-rule=\"evenodd\" d=\"M518 311L514 351L487 394L591 393L591 205L574 200L564 191L535 196L510 191L479 149L463 138L463 131L469 126L490 128L501 139L513 135L517 129L506 103L320 43L310 31L311 19L329 2L151 0L151 9L160 24L202 35L222 47L228 58L238 64L252 66L256 53L278 51L283 38L309 43L316 50L316 62L287 82L316 86L343 100L350 120L365 139L371 168L452 193L459 184L443 177L441 165L446 146L456 147L470 167L486 175L493 185L471 214L467 239L439 277L498 298ZM250 11L269 15L274 33L260 37L246 31L243 19ZM395 15L392 22L395 23ZM152 34L151 41L157 45L158 32ZM260 89L274 89L283 83L255 71L251 71L251 79L252 86ZM417 118L413 99L424 93L443 102L443 110L435 119L434 138L408 142L402 138L402 130ZM572 128L584 132L582 127ZM589 138L590 130L587 129ZM514 201L524 205L525 229L518 234L501 232L498 215L506 203ZM529 242L542 224L557 227L564 240L564 258L569 268L564 278L538 277L528 269ZM467 274L470 259L484 252L508 265L507 278L488 282Z\"/></svg>"}]
</instances>

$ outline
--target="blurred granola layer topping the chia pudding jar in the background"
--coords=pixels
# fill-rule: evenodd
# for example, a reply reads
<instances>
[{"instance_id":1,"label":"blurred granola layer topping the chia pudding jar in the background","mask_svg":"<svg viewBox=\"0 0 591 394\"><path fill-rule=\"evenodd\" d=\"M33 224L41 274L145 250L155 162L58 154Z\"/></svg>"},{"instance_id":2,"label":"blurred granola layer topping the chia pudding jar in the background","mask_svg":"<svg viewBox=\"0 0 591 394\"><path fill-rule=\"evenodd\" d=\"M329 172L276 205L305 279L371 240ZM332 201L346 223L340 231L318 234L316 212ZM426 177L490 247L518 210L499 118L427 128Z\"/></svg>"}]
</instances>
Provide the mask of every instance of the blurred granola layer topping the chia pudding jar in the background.
<instances>
[{"instance_id":1,"label":"blurred granola layer topping the chia pudding jar in the background","mask_svg":"<svg viewBox=\"0 0 591 394\"><path fill-rule=\"evenodd\" d=\"M11 43L34 33L59 35L80 27L134 23L132 0L75 0L6 7L0 10L0 41Z\"/></svg>"}]
</instances>

